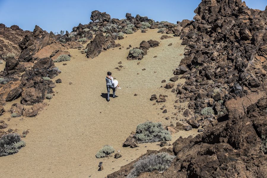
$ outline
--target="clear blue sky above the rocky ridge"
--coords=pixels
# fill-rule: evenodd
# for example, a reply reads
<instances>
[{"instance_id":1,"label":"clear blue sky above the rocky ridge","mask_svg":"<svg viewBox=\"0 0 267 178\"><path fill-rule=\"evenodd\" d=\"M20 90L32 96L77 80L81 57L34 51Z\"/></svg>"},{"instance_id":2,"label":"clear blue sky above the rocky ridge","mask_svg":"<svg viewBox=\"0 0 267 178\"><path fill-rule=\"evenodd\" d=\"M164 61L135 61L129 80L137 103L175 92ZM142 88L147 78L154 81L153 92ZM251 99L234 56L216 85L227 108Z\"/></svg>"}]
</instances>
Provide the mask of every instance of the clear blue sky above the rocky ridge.
<instances>
[{"instance_id":1,"label":"clear blue sky above the rocky ridge","mask_svg":"<svg viewBox=\"0 0 267 178\"><path fill-rule=\"evenodd\" d=\"M128 3L127 2L131 2ZM0 0L0 23L6 26L18 25L23 30L72 31L79 23L90 22L93 10L107 12L111 18L122 19L125 14L139 14L155 21L193 19L194 9L201 0ZM264 10L267 0L247 0L248 7Z\"/></svg>"}]
</instances>

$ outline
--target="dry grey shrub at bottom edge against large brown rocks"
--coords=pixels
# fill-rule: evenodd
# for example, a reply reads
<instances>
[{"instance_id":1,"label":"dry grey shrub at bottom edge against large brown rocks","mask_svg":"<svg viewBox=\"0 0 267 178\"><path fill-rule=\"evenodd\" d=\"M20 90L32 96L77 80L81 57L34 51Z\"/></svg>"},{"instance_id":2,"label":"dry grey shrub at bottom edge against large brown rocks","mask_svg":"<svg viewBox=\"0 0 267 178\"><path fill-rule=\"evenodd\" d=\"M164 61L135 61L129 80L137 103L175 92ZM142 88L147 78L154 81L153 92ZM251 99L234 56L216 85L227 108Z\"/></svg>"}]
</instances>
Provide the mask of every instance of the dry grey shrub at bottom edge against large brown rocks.
<instances>
[{"instance_id":1,"label":"dry grey shrub at bottom edge against large brown rocks","mask_svg":"<svg viewBox=\"0 0 267 178\"><path fill-rule=\"evenodd\" d=\"M134 163L134 168L127 175L127 178L138 177L142 172L152 172L154 170L160 172L166 171L170 167L174 158L174 155L170 155L167 152L143 156Z\"/></svg>"}]
</instances>

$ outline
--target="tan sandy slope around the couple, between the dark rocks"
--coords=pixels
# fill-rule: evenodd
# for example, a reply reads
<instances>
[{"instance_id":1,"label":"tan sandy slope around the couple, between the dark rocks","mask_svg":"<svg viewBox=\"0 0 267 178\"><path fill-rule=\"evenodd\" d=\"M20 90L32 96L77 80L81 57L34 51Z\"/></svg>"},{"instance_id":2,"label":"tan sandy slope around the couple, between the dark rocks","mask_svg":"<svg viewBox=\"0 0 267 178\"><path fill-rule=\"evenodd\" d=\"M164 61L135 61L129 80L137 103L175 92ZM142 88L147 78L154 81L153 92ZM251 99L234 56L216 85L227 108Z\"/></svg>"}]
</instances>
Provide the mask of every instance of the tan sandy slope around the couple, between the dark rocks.
<instances>
[{"instance_id":1,"label":"tan sandy slope around the couple, between the dark rocks","mask_svg":"<svg viewBox=\"0 0 267 178\"><path fill-rule=\"evenodd\" d=\"M55 63L62 72L53 81L60 78L62 83L54 88L53 99L45 100L49 106L34 118L7 121L9 113L1 117L9 128L19 132L28 129L30 133L23 138L26 147L14 155L0 157L0 177L101 178L119 170L120 166L138 158L148 149L159 150L158 143L139 144L136 148L122 147L139 123L150 120L170 125L183 117L181 114L174 115L177 112L174 109L175 94L160 87L166 85L161 83L163 79L168 81L173 77L173 69L183 58L180 54L184 53L184 46L180 45L182 41L179 37L160 40L162 34L156 32L157 29L153 29L147 33L138 31L125 35L127 37L117 41L123 46L121 50L118 47L109 49L93 59L86 58L78 49L71 49L71 61ZM130 44L139 47L142 40L150 39L159 41L159 47L150 48L141 61L127 61L129 50L126 47ZM172 46L168 46L169 43ZM155 55L158 57L153 58ZM119 61L123 66L120 71L115 69L120 65ZM137 65L137 62L140 64ZM67 65L63 66L63 63ZM144 68L146 70L143 71ZM107 71L112 72L122 88L116 92L119 97L110 98L110 102L103 98L107 93ZM176 83L179 82L183 81ZM135 93L137 96L134 96ZM167 94L167 102L153 105L155 101L149 100L152 94ZM5 109L10 109L12 103ZM163 105L168 110L165 114L160 110ZM166 117L170 119L166 120ZM179 136L196 134L196 130L179 131L172 135L170 143ZM122 158L96 158L96 152L107 144L115 148L115 153L120 150ZM103 171L97 171L100 161L103 162Z\"/></svg>"}]
</instances>

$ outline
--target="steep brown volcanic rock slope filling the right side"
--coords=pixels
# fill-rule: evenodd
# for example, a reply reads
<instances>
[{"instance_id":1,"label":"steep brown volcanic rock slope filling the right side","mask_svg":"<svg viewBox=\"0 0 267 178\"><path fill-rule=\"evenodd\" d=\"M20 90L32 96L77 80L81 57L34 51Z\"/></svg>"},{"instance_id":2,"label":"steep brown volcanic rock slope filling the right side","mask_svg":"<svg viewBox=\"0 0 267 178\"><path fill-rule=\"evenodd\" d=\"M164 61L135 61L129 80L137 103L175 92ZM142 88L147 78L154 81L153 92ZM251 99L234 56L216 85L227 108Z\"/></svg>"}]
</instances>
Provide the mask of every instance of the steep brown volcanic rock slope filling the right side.
<instances>
[{"instance_id":1,"label":"steep brown volcanic rock slope filling the right side","mask_svg":"<svg viewBox=\"0 0 267 178\"><path fill-rule=\"evenodd\" d=\"M161 150L176 155L169 169L139 177L266 177L267 8L203 0L194 12L176 30L186 52L174 75L186 79L176 92L189 101L187 123L204 131ZM132 169L129 163L107 177Z\"/></svg>"}]
</instances>

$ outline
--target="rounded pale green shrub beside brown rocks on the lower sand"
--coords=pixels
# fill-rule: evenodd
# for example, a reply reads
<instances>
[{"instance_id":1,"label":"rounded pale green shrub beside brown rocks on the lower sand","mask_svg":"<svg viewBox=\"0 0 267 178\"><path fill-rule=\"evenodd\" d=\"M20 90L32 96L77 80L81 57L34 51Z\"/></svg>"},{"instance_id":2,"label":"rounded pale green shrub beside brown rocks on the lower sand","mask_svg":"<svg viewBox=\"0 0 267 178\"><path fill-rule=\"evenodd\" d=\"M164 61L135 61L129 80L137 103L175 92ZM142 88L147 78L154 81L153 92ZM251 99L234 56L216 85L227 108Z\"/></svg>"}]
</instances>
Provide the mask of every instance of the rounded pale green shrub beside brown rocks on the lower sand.
<instances>
[{"instance_id":1,"label":"rounded pale green shrub beside brown rocks on the lower sand","mask_svg":"<svg viewBox=\"0 0 267 178\"><path fill-rule=\"evenodd\" d=\"M139 142L159 142L159 141L170 141L171 134L169 131L162 127L162 124L145 122L137 125L136 137Z\"/></svg>"}]
</instances>

